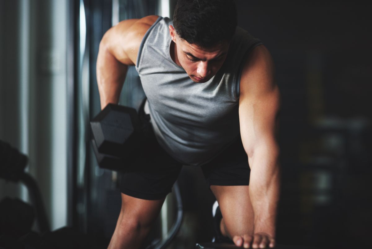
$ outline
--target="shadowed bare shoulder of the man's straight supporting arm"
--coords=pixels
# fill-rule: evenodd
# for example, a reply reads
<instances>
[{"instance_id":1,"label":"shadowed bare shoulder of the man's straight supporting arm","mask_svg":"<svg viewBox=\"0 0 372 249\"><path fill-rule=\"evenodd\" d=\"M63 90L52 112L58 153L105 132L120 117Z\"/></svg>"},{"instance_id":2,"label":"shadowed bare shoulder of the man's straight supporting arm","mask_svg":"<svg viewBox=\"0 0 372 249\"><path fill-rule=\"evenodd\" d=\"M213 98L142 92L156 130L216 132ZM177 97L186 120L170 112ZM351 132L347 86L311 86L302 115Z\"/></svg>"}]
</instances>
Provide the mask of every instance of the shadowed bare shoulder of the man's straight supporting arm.
<instances>
[{"instance_id":1,"label":"shadowed bare shoulder of the man's straight supporting arm","mask_svg":"<svg viewBox=\"0 0 372 249\"><path fill-rule=\"evenodd\" d=\"M264 45L255 47L243 65L240 77L240 98L277 94L275 66L269 50Z\"/></svg>"}]
</instances>

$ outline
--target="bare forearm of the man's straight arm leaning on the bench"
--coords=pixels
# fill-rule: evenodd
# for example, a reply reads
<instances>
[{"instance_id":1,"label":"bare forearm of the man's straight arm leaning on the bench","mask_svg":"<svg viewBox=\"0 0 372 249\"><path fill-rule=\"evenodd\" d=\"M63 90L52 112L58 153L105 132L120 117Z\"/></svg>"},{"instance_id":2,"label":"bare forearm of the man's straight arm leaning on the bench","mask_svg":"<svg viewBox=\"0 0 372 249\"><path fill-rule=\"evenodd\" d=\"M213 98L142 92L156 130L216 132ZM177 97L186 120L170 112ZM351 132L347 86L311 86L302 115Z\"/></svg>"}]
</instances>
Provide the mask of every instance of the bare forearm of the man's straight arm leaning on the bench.
<instances>
[{"instance_id":1,"label":"bare forearm of the man's straight arm leaning on the bench","mask_svg":"<svg viewBox=\"0 0 372 249\"><path fill-rule=\"evenodd\" d=\"M254 233L275 238L280 193L279 152L277 146L257 148L250 158L249 194L254 212Z\"/></svg>"}]
</instances>

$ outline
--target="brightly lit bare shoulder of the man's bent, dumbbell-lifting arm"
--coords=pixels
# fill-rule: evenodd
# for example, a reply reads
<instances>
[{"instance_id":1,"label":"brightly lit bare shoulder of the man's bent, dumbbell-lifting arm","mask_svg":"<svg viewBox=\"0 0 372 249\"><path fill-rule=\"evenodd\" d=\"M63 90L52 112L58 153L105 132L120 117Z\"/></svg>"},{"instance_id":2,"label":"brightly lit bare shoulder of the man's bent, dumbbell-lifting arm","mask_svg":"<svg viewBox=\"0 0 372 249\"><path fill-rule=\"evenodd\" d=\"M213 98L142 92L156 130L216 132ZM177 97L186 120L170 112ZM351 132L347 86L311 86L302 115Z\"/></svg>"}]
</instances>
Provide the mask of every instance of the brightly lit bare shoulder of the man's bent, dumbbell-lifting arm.
<instances>
[{"instance_id":1,"label":"brightly lit bare shoulder of the man's bent, dumbbell-lifting arm","mask_svg":"<svg viewBox=\"0 0 372 249\"><path fill-rule=\"evenodd\" d=\"M101 43L107 44L120 62L133 65L137 61L138 49L145 33L158 17L154 15L121 21L106 32Z\"/></svg>"}]
</instances>

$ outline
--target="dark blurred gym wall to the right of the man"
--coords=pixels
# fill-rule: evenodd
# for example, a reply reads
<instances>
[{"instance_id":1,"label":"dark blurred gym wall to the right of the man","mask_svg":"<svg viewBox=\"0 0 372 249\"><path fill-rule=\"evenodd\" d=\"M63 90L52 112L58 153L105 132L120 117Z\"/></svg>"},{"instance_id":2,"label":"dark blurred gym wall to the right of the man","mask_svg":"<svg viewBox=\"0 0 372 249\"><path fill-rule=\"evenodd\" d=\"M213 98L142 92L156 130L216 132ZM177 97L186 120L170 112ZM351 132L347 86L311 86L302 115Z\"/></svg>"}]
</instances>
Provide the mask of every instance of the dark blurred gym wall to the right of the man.
<instances>
[{"instance_id":1,"label":"dark blurred gym wall to the right of the man","mask_svg":"<svg viewBox=\"0 0 372 249\"><path fill-rule=\"evenodd\" d=\"M372 232L371 2L237 1L282 94L278 242L366 246Z\"/></svg>"}]
</instances>

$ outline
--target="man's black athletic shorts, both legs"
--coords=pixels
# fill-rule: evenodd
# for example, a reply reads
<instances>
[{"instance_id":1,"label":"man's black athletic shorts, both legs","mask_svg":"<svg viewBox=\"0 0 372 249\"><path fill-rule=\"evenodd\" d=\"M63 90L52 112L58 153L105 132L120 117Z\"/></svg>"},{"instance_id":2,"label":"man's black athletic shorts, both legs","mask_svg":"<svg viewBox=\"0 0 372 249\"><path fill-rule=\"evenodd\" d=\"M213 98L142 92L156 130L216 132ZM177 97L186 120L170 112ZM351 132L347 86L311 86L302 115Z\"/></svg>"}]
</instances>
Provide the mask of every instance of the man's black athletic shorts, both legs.
<instances>
[{"instance_id":1,"label":"man's black athletic shorts, both legs","mask_svg":"<svg viewBox=\"0 0 372 249\"><path fill-rule=\"evenodd\" d=\"M144 113L143 106L144 103L138 115L145 134L146 143L143 150L146 153L140 154L135 163L121 173L120 190L136 198L158 200L171 192L182 163L160 147L150 123L150 115ZM200 167L209 186L249 185L250 167L240 136L211 162Z\"/></svg>"}]
</instances>

